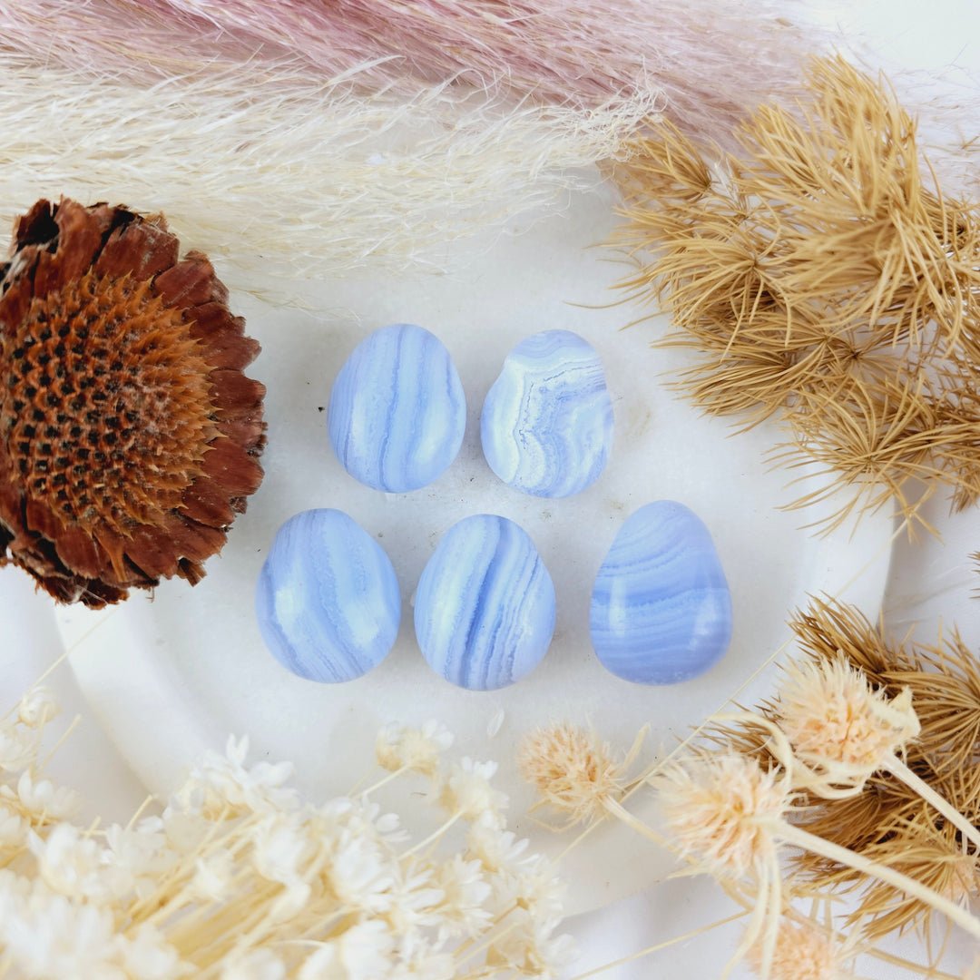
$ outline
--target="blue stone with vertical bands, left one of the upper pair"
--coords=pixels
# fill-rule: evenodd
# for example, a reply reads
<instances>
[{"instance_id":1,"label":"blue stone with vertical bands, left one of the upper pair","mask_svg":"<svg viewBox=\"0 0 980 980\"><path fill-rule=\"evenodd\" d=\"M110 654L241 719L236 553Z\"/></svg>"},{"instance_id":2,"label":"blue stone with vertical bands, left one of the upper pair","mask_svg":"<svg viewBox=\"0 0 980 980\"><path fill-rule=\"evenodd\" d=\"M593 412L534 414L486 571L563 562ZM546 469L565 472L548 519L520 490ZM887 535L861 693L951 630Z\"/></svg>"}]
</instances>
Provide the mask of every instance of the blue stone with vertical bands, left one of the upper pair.
<instances>
[{"instance_id":1,"label":"blue stone with vertical bands, left one of the upper pair","mask_svg":"<svg viewBox=\"0 0 980 980\"><path fill-rule=\"evenodd\" d=\"M330 391L327 425L341 465L375 490L427 486L456 459L466 397L445 345L411 323L354 349Z\"/></svg>"}]
</instances>

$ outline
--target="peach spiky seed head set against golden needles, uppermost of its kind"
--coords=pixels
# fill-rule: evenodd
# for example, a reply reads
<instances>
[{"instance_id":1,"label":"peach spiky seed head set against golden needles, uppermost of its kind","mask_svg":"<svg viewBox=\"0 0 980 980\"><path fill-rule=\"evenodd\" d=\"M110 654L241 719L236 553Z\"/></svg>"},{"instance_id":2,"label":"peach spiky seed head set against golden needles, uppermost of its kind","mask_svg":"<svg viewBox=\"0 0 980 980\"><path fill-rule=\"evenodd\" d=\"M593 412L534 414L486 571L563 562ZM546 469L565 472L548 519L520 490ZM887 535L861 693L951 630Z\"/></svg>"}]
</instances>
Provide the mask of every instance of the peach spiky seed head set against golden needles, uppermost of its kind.
<instances>
[{"instance_id":1,"label":"peach spiky seed head set against golden needles, uppermost of its kind","mask_svg":"<svg viewBox=\"0 0 980 980\"><path fill-rule=\"evenodd\" d=\"M843 656L790 663L775 707L795 753L834 783L862 785L919 732L911 693L889 701Z\"/></svg>"}]
</instances>

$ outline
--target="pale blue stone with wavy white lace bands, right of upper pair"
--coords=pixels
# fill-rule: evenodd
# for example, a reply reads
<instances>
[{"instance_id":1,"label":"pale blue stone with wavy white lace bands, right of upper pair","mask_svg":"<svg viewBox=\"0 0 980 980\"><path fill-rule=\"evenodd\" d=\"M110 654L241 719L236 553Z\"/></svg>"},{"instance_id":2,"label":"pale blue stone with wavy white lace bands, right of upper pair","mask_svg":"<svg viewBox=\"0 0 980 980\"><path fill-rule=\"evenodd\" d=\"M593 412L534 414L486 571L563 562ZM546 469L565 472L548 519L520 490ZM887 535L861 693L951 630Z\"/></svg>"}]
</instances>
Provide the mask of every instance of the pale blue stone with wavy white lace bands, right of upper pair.
<instances>
[{"instance_id":1,"label":"pale blue stone with wavy white lace bands, right of upper pair","mask_svg":"<svg viewBox=\"0 0 980 980\"><path fill-rule=\"evenodd\" d=\"M483 403L483 455L505 482L536 497L593 484L613 447L613 401L595 350L569 330L517 344Z\"/></svg>"}]
</instances>

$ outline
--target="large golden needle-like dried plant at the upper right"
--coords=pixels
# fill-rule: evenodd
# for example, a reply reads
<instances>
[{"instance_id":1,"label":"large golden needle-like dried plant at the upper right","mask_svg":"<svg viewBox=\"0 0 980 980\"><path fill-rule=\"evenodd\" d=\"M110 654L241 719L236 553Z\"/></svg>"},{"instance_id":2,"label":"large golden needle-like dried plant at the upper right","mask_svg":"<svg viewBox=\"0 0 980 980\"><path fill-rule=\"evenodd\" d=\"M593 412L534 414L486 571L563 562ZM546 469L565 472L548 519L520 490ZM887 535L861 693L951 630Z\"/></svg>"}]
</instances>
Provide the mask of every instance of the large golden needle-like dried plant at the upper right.
<instances>
[{"instance_id":1,"label":"large golden needle-like dried plant at the upper right","mask_svg":"<svg viewBox=\"0 0 980 980\"><path fill-rule=\"evenodd\" d=\"M618 286L701 353L676 386L786 430L774 462L855 493L828 518L938 484L980 498L980 209L944 196L884 77L814 59L807 97L761 106L709 160L657 123L612 169L637 269ZM912 526L911 521L909 527ZM927 526L927 525L926 525Z\"/></svg>"}]
</instances>

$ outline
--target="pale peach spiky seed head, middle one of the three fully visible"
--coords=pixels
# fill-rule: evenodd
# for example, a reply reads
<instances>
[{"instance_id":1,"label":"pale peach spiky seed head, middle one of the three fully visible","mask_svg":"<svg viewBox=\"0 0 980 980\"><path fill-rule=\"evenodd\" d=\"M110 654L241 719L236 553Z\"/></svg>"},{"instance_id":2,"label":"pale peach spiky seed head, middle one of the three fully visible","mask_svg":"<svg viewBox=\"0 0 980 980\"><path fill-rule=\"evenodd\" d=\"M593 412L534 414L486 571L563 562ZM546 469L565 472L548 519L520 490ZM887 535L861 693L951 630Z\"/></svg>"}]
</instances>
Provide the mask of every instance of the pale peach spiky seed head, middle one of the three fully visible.
<instances>
[{"instance_id":1,"label":"pale peach spiky seed head, middle one of the three fully visible","mask_svg":"<svg viewBox=\"0 0 980 980\"><path fill-rule=\"evenodd\" d=\"M653 785L681 857L725 878L774 857L773 825L790 805L778 771L735 754L697 756L667 767Z\"/></svg>"}]
</instances>

